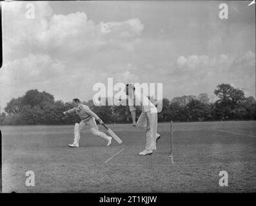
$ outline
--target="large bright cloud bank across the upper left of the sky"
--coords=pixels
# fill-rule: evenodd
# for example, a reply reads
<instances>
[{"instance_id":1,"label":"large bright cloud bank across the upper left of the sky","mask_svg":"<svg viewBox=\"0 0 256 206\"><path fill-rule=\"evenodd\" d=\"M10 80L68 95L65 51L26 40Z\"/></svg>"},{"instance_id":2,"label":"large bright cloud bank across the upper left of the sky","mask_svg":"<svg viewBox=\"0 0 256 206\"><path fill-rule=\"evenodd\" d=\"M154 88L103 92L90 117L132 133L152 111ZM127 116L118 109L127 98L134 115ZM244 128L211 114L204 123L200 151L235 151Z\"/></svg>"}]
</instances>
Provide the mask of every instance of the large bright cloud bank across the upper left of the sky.
<instances>
[{"instance_id":1,"label":"large bright cloud bank across the upper left of the sky","mask_svg":"<svg viewBox=\"0 0 256 206\"><path fill-rule=\"evenodd\" d=\"M133 52L144 30L136 18L95 24L85 12L52 15L48 3L33 4L35 19L26 19L26 3L3 6L6 61L35 52L47 52L63 59L70 59L70 53L80 57L81 53L85 56L104 49Z\"/></svg>"}]
</instances>

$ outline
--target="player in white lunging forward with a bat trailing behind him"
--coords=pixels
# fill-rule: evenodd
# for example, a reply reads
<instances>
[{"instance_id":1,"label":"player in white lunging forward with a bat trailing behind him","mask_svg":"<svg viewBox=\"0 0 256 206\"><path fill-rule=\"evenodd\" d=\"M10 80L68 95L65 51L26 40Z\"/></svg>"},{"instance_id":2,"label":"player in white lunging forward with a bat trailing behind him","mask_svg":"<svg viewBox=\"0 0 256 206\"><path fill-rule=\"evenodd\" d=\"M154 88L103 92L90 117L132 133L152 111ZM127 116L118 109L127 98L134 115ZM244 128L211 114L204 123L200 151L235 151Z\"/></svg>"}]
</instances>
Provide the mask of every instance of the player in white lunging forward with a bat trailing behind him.
<instances>
[{"instance_id":1,"label":"player in white lunging forward with a bat trailing behind him","mask_svg":"<svg viewBox=\"0 0 256 206\"><path fill-rule=\"evenodd\" d=\"M95 136L99 136L106 140L107 146L111 144L112 137L107 136L105 133L99 131L99 128L96 124L96 121L99 122L99 124L103 124L103 120L99 118L88 106L81 103L81 101L78 98L74 98L72 100L72 103L74 104L74 108L70 109L68 111L64 111L63 114L69 114L69 113L77 113L77 115L81 118L81 122L75 123L74 127L74 143L69 144L70 147L79 147L79 140L81 136L81 131L86 126L89 127L91 133Z\"/></svg>"}]
</instances>

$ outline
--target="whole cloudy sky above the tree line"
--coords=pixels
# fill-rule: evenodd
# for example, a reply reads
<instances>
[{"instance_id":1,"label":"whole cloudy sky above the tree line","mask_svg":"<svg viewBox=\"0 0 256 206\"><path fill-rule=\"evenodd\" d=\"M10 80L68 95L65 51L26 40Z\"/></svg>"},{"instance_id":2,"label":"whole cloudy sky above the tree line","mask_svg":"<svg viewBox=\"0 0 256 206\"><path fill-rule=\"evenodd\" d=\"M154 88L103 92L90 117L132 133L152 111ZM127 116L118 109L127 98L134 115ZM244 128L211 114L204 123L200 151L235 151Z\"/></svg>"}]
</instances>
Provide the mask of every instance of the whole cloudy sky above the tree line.
<instances>
[{"instance_id":1,"label":"whole cloudy sky above the tree line","mask_svg":"<svg viewBox=\"0 0 256 206\"><path fill-rule=\"evenodd\" d=\"M89 100L97 82L159 82L163 97L213 95L228 83L255 97L255 6L228 1L3 4L0 107L28 89ZM27 2L28 3L28 2Z\"/></svg>"}]
</instances>

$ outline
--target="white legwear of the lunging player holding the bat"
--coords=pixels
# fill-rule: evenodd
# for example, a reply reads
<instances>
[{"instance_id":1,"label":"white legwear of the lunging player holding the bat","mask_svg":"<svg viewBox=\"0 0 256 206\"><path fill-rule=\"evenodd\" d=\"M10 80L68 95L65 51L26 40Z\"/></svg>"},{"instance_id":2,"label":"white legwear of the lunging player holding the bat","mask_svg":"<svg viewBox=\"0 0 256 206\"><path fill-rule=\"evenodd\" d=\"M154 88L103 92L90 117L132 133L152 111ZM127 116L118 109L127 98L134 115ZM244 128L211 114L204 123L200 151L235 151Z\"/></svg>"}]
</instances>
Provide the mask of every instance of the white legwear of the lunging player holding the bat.
<instances>
[{"instance_id":1,"label":"white legwear of the lunging player holding the bat","mask_svg":"<svg viewBox=\"0 0 256 206\"><path fill-rule=\"evenodd\" d=\"M88 128L90 129L91 133L95 136L100 136L101 138L104 138L105 140L108 140L108 136L99 131L99 127L96 124L95 118L91 117L89 120L83 121L81 120L81 122L75 123L75 128L74 128L74 144L79 144L79 140L81 137L81 131L88 126Z\"/></svg>"}]
</instances>

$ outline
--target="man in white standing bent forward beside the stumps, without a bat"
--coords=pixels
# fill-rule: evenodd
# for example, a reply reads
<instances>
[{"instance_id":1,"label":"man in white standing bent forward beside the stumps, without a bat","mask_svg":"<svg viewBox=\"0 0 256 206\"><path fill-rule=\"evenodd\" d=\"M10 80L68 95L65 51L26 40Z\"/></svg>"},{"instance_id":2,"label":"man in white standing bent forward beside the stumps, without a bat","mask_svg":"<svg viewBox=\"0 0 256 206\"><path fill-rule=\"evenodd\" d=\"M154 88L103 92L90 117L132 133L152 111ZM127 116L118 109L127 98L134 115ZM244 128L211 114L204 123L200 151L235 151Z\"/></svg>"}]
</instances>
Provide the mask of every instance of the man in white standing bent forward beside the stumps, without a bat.
<instances>
[{"instance_id":1,"label":"man in white standing bent forward beside the stumps, without a bat","mask_svg":"<svg viewBox=\"0 0 256 206\"><path fill-rule=\"evenodd\" d=\"M157 108L148 97L135 90L133 84L126 84L126 95L128 95L128 104L132 115L132 125L146 131L146 146L139 155L152 154L156 150L156 142L160 138L157 134ZM135 120L136 107L139 106L142 113L139 119Z\"/></svg>"}]
</instances>

